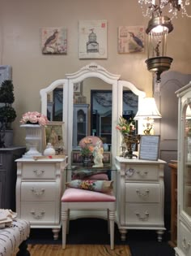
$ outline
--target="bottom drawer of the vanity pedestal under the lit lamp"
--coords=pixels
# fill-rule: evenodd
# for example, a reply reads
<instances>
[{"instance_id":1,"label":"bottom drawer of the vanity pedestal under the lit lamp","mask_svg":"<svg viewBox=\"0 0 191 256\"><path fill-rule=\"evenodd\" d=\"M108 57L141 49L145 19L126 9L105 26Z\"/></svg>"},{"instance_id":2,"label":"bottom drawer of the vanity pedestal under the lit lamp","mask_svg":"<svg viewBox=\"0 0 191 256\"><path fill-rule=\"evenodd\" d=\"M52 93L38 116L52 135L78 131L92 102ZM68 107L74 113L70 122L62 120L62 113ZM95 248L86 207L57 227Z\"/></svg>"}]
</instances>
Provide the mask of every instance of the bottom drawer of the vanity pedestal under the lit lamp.
<instances>
[{"instance_id":1,"label":"bottom drawer of the vanity pedestal under the lit lamp","mask_svg":"<svg viewBox=\"0 0 191 256\"><path fill-rule=\"evenodd\" d=\"M160 204L125 204L125 224L138 227L161 227L163 219Z\"/></svg>"}]
</instances>

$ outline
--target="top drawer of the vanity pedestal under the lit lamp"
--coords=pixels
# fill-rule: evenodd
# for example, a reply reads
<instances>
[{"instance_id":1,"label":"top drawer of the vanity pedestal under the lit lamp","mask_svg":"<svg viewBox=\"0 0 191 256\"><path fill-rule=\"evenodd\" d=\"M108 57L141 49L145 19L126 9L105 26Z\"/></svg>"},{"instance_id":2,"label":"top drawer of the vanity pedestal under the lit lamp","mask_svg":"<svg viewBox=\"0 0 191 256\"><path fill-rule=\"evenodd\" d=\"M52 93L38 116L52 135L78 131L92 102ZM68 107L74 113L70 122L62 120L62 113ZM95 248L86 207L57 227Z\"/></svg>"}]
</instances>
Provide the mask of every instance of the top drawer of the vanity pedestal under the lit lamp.
<instances>
[{"instance_id":1,"label":"top drawer of the vanity pedestal under the lit lamp","mask_svg":"<svg viewBox=\"0 0 191 256\"><path fill-rule=\"evenodd\" d=\"M159 180L159 166L126 165L125 180Z\"/></svg>"}]
</instances>

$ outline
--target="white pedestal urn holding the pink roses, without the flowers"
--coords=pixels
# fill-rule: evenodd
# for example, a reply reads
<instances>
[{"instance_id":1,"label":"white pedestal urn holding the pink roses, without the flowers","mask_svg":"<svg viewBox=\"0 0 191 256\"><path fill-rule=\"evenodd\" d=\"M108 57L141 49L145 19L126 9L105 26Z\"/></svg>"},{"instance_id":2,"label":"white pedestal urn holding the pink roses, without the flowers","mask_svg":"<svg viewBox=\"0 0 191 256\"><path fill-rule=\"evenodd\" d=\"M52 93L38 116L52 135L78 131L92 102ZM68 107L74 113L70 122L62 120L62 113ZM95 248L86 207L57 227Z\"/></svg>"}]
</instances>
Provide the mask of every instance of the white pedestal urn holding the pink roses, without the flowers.
<instances>
[{"instance_id":1,"label":"white pedestal urn holding the pink roses, without the flowers","mask_svg":"<svg viewBox=\"0 0 191 256\"><path fill-rule=\"evenodd\" d=\"M23 158L33 158L34 156L42 155L37 150L42 140L42 127L39 124L22 124L20 127L25 128L25 140L28 149L28 151L23 155Z\"/></svg>"}]
</instances>

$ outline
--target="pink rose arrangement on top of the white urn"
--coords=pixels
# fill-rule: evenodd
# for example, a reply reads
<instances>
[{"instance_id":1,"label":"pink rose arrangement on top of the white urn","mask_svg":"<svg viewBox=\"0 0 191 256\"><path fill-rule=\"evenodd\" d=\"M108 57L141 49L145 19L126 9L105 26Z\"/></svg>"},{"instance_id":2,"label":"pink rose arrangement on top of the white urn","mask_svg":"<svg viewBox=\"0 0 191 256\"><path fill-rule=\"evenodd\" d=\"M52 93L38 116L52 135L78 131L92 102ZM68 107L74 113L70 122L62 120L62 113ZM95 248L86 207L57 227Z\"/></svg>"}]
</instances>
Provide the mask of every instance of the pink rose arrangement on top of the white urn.
<instances>
[{"instance_id":1,"label":"pink rose arrangement on top of the white urn","mask_svg":"<svg viewBox=\"0 0 191 256\"><path fill-rule=\"evenodd\" d=\"M49 120L45 115L42 115L39 112L34 111L23 114L22 119L20 119L20 123L46 125L49 123Z\"/></svg>"}]
</instances>

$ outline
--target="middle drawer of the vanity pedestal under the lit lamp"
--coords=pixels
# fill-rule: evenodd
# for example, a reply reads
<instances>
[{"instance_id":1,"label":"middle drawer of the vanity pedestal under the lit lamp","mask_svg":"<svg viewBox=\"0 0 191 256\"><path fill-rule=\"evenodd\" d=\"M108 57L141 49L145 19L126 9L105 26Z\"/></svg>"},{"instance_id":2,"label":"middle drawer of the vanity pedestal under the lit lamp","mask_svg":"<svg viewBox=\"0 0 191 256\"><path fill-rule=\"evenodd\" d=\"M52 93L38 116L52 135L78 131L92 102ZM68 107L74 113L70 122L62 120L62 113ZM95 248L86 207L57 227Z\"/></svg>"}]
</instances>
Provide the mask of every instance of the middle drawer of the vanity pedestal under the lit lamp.
<instances>
[{"instance_id":1,"label":"middle drawer of the vanity pedestal under the lit lamp","mask_svg":"<svg viewBox=\"0 0 191 256\"><path fill-rule=\"evenodd\" d=\"M125 202L159 202L159 184L125 183Z\"/></svg>"}]
</instances>

